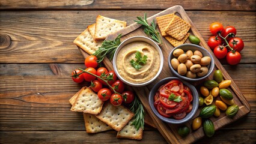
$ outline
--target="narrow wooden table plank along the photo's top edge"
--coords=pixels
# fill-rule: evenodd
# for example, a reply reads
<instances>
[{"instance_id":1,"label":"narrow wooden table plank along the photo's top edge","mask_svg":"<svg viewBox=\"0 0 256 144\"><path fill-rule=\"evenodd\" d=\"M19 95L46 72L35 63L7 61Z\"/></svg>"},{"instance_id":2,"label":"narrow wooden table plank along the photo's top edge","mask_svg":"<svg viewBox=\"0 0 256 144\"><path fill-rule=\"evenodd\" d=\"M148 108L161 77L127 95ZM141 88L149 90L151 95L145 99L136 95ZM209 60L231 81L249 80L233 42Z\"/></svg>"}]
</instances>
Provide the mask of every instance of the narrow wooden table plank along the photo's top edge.
<instances>
[{"instance_id":1,"label":"narrow wooden table plank along the photo's top edge","mask_svg":"<svg viewBox=\"0 0 256 144\"><path fill-rule=\"evenodd\" d=\"M157 5L156 5L157 4ZM174 5L181 5L185 10L236 10L236 11L253 11L255 10L255 1L253 0L224 0L224 1L146 1L139 0L136 2L130 1L94 1L94 0L85 0L85 1L1 1L0 9L66 9L66 10L118 10L118 9L126 9L126 10L156 10L156 9L166 9L168 7L172 7Z\"/></svg>"}]
</instances>

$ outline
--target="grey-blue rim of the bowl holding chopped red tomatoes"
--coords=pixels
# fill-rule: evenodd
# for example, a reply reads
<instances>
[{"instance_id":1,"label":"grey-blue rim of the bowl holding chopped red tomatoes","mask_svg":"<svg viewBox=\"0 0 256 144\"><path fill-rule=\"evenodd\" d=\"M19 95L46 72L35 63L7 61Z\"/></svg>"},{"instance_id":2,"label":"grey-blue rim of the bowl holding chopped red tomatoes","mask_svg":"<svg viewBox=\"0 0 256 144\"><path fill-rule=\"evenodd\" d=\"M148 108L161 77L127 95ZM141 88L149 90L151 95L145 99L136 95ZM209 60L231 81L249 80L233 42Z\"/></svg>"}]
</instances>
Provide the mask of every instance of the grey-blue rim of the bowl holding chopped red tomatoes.
<instances>
[{"instance_id":1,"label":"grey-blue rim of the bowl holding chopped red tomatoes","mask_svg":"<svg viewBox=\"0 0 256 144\"><path fill-rule=\"evenodd\" d=\"M193 96L193 102L192 102L193 108L192 108L191 112L189 114L187 114L185 116L185 118L180 119L180 120L172 119L172 118L165 118L165 117L161 116L157 112L156 108L154 107L154 100L153 100L157 89L159 89L159 87L161 85L164 85L165 83L168 83L169 81L175 80L175 79L180 80L183 83L183 85L188 86L191 89L192 96ZM182 123L187 122L190 119L192 119L193 116L195 115L195 113L197 113L198 106L199 106L199 95L198 95L198 92L197 92L197 89L195 88L195 86L190 84L189 82L186 82L185 80L182 80L178 77L166 77L165 79L160 80L159 82L156 83L156 85L153 86L153 88L151 89L150 94L148 96L148 101L149 101L150 108L153 111L154 115L156 115L159 119L161 119L162 121L167 122L169 124L182 124Z\"/></svg>"}]
</instances>

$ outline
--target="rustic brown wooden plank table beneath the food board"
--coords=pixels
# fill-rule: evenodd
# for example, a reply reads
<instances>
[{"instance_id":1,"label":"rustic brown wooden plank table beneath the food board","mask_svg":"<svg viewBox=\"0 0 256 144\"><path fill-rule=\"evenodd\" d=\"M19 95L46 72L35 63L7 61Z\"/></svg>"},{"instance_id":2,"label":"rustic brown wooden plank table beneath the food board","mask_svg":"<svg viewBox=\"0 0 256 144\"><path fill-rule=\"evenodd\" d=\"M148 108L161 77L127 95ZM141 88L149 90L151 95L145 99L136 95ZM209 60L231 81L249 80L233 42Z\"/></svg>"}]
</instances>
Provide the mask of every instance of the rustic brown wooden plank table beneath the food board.
<instances>
[{"instance_id":1,"label":"rustic brown wooden plank table beneath the food board","mask_svg":"<svg viewBox=\"0 0 256 144\"><path fill-rule=\"evenodd\" d=\"M256 142L256 3L255 0L207 1L1 1L0 2L0 143L166 143L145 125L140 141L117 139L116 131L87 134L81 113L69 98L83 84L70 78L84 58L73 40L98 14L133 23L181 5L204 40L218 21L237 28L245 42L242 61L221 61L251 105L251 113L197 143Z\"/></svg>"}]
</instances>

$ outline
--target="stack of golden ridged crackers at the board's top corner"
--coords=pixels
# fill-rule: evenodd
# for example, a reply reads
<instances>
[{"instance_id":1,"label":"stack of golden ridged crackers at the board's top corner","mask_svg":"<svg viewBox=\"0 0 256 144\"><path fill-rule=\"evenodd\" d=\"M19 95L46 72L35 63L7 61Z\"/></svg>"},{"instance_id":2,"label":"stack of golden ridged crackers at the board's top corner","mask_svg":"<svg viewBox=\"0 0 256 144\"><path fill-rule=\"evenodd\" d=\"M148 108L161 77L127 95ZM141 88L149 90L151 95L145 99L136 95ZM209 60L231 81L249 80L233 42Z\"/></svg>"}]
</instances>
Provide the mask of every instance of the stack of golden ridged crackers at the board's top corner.
<instances>
[{"instance_id":1,"label":"stack of golden ridged crackers at the board's top corner","mask_svg":"<svg viewBox=\"0 0 256 144\"><path fill-rule=\"evenodd\" d=\"M177 47L183 44L189 37L189 23L185 22L174 13L156 17L160 33L172 46Z\"/></svg>"}]
</instances>

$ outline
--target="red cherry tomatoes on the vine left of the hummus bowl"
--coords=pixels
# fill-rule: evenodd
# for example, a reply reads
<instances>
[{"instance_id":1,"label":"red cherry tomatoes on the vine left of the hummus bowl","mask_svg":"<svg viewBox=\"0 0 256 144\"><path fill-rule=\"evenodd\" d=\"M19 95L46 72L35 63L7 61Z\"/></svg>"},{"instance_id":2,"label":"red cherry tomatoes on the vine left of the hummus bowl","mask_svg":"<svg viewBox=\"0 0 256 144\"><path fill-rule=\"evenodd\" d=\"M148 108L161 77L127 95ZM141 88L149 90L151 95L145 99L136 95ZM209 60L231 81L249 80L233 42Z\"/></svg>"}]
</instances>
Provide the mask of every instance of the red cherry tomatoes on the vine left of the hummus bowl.
<instances>
[{"instance_id":1,"label":"red cherry tomatoes on the vine left of the hummus bowl","mask_svg":"<svg viewBox=\"0 0 256 144\"><path fill-rule=\"evenodd\" d=\"M91 82L90 88L94 92L97 92L100 100L110 100L114 106L120 106L122 103L132 103L135 98L133 92L124 91L125 84L121 80L117 79L117 74L115 74L114 71L108 71L105 67L97 68L98 63L96 56L88 56L85 59L85 66L87 67L85 71L88 71L91 74L82 73L83 71L79 69L73 70L72 79L74 82L81 83L84 80ZM94 76L92 74L94 74Z\"/></svg>"}]
</instances>

